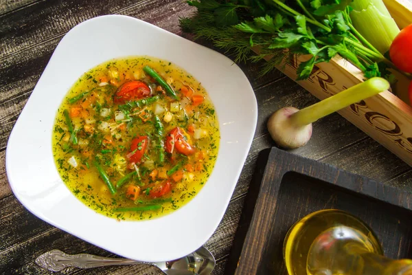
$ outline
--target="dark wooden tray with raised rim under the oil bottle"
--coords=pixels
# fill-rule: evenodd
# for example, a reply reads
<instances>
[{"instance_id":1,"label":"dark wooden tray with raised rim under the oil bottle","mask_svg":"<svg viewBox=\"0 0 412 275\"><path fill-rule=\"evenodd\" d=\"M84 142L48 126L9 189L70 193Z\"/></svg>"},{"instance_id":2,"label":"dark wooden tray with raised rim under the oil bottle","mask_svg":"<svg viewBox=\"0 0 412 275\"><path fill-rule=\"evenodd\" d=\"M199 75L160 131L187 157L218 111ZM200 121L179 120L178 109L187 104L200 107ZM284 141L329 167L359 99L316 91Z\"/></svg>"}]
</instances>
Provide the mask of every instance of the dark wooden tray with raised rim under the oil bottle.
<instances>
[{"instance_id":1,"label":"dark wooden tray with raised rim under the oil bottle","mask_svg":"<svg viewBox=\"0 0 412 275\"><path fill-rule=\"evenodd\" d=\"M386 256L411 258L408 192L271 148L260 153L226 273L287 274L282 254L286 232L306 214L328 208L369 224Z\"/></svg>"}]
</instances>

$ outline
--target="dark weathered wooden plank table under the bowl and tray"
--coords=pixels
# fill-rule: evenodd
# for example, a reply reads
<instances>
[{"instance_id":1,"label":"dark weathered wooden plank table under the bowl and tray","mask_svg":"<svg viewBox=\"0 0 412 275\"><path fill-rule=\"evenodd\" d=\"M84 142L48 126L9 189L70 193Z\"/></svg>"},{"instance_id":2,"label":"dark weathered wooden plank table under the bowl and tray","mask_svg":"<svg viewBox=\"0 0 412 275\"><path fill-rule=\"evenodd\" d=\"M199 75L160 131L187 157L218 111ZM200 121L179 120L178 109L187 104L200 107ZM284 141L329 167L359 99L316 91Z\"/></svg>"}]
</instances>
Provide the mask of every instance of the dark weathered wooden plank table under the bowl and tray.
<instances>
[{"instance_id":1,"label":"dark weathered wooden plank table under the bowl and tray","mask_svg":"<svg viewBox=\"0 0 412 275\"><path fill-rule=\"evenodd\" d=\"M54 248L70 254L115 256L34 217L16 200L5 174L10 131L60 39L76 24L104 14L125 14L190 39L181 33L178 19L192 12L194 9L183 0L0 0L0 274L52 274L37 267L34 259ZM211 47L204 41L198 43ZM280 72L257 78L259 64L240 66L258 98L258 127L225 217L205 243L216 258L213 274L225 273L258 153L275 146L266 129L268 116L279 107L302 108L317 102ZM312 140L293 152L412 190L411 167L336 113L316 122ZM62 274L161 272L155 267L124 266L66 270Z\"/></svg>"}]
</instances>

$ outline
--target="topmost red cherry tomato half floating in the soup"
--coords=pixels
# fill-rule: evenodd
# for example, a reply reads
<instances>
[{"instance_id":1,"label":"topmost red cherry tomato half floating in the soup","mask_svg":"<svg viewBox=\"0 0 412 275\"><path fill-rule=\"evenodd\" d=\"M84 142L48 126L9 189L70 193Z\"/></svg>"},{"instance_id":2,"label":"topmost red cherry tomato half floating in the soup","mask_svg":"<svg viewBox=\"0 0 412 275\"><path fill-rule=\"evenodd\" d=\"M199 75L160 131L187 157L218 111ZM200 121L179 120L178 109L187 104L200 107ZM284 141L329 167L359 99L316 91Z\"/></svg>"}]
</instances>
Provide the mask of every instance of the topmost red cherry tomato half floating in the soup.
<instances>
[{"instance_id":1,"label":"topmost red cherry tomato half floating in the soup","mask_svg":"<svg viewBox=\"0 0 412 275\"><path fill-rule=\"evenodd\" d=\"M132 80L124 83L117 89L115 103L124 103L130 100L145 98L150 95L150 88L139 80Z\"/></svg>"}]
</instances>

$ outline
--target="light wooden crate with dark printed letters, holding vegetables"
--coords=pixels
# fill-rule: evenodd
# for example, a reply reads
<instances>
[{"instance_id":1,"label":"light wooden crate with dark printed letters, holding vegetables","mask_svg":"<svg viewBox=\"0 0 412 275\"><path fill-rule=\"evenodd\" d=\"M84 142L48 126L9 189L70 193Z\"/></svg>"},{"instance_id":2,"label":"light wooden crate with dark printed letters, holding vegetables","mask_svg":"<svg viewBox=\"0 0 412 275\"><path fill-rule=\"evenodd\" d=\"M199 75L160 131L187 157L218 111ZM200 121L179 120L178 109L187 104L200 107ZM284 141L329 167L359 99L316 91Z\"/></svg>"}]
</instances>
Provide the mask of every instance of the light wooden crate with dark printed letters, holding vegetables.
<instances>
[{"instance_id":1,"label":"light wooden crate with dark printed letters, holding vegetables","mask_svg":"<svg viewBox=\"0 0 412 275\"><path fill-rule=\"evenodd\" d=\"M409 0L384 0L393 19L404 28L412 23L412 2ZM308 56L299 56L278 69L295 80L296 70ZM363 81L362 72L343 58L336 56L329 63L315 65L310 78L297 83L323 100ZM404 91L400 98L407 101L409 80L402 76L396 84ZM339 113L374 140L412 166L412 107L390 91L362 100ZM316 129L314 129L316 131Z\"/></svg>"}]
</instances>

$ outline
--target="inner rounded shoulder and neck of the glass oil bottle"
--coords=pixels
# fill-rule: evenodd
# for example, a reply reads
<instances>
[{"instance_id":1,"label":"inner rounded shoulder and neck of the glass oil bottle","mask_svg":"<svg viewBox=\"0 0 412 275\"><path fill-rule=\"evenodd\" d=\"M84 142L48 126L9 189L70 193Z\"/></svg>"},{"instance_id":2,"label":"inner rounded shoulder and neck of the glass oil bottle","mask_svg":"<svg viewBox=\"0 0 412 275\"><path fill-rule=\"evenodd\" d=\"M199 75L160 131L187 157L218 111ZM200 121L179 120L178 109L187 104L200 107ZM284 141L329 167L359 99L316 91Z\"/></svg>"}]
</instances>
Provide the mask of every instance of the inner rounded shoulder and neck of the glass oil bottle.
<instances>
[{"instance_id":1,"label":"inner rounded shoulder and neck of the glass oil bottle","mask_svg":"<svg viewBox=\"0 0 412 275\"><path fill-rule=\"evenodd\" d=\"M339 225L317 236L306 268L309 275L412 275L412 260L381 256L365 234Z\"/></svg>"}]
</instances>

